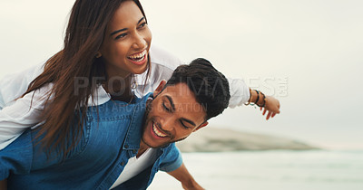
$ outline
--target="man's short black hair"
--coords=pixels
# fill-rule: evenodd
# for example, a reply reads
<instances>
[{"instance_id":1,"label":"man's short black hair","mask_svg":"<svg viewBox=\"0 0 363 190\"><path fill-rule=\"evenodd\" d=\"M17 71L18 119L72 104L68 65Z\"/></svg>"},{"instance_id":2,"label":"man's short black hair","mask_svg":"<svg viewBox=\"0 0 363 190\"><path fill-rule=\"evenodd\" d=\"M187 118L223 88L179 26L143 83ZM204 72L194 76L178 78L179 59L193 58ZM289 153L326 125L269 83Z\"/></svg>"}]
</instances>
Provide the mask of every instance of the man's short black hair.
<instances>
[{"instance_id":1,"label":"man's short black hair","mask_svg":"<svg viewBox=\"0 0 363 190\"><path fill-rule=\"evenodd\" d=\"M179 66L166 86L181 82L188 85L205 109L205 120L218 116L228 107L231 98L228 80L208 60L198 58L189 65Z\"/></svg>"}]
</instances>

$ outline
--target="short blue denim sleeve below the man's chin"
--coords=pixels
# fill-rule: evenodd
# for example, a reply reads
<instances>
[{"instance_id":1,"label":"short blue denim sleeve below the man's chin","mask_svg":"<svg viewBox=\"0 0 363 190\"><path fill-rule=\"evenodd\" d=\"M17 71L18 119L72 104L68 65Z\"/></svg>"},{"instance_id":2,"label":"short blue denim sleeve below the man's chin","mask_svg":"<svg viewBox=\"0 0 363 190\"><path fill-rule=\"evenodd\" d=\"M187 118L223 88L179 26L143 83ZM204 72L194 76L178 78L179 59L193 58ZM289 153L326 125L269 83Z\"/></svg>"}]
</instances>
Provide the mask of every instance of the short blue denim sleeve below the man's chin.
<instances>
[{"instance_id":1,"label":"short blue denim sleeve below the man's chin","mask_svg":"<svg viewBox=\"0 0 363 190\"><path fill-rule=\"evenodd\" d=\"M178 147L175 147L175 143L170 145L167 152L164 153L165 157L162 159L160 170L164 172L172 172L182 166L182 154Z\"/></svg>"}]
</instances>

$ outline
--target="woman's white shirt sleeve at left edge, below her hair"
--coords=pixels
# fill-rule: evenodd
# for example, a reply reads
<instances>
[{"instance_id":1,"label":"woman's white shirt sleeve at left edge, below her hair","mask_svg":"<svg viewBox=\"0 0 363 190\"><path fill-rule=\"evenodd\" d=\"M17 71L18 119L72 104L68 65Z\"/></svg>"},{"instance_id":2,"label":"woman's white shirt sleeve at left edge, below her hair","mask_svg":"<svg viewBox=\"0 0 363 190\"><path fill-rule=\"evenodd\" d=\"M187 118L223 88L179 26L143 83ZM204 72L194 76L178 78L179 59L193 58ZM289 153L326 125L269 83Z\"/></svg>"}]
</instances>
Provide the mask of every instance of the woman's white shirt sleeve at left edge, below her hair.
<instances>
[{"instance_id":1,"label":"woman's white shirt sleeve at left edge, below her hair","mask_svg":"<svg viewBox=\"0 0 363 190\"><path fill-rule=\"evenodd\" d=\"M18 138L26 128L41 123L40 116L51 88L52 84L48 84L0 110L0 150Z\"/></svg>"}]
</instances>

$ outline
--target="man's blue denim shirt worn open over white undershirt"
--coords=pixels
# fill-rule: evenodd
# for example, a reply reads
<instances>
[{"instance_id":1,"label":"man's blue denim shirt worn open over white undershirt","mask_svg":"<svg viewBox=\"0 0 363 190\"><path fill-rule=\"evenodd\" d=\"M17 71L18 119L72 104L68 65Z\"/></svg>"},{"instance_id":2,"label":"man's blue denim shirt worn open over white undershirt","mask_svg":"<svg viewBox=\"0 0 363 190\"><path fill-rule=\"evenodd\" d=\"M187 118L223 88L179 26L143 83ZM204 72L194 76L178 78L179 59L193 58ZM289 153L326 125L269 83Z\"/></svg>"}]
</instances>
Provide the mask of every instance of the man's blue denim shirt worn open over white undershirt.
<instances>
[{"instance_id":1,"label":"man's blue denim shirt worn open over white undershirt","mask_svg":"<svg viewBox=\"0 0 363 190\"><path fill-rule=\"evenodd\" d=\"M0 180L8 177L8 189L109 189L137 154L149 96L130 105L110 100L88 108L83 136L65 160L55 153L48 159L34 140L36 131L25 131L0 151ZM182 165L173 143L158 148L157 154L152 166L114 189L146 189L158 170Z\"/></svg>"}]
</instances>

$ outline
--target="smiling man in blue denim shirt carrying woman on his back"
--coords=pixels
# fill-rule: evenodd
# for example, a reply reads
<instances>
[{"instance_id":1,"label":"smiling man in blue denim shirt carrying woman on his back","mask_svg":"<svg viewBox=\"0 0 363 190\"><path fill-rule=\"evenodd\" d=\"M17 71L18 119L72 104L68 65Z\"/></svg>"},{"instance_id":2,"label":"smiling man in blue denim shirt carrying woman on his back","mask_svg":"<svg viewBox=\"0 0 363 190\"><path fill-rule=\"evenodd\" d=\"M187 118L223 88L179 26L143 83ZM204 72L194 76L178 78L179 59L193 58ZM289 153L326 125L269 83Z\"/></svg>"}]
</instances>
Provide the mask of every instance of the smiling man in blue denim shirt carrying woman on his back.
<instances>
[{"instance_id":1,"label":"smiling man in blue denim shirt carrying woman on his back","mask_svg":"<svg viewBox=\"0 0 363 190\"><path fill-rule=\"evenodd\" d=\"M36 130L25 131L0 151L0 180L8 177L10 189L146 189L162 170L184 188L200 189L174 142L207 126L230 97L224 75L210 62L194 60L153 95L89 108L83 136L65 159L61 152L47 155Z\"/></svg>"}]
</instances>

